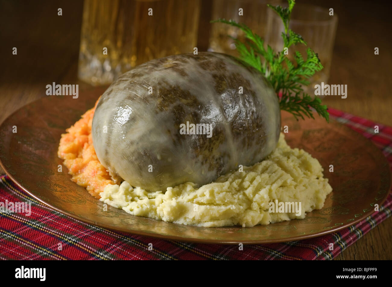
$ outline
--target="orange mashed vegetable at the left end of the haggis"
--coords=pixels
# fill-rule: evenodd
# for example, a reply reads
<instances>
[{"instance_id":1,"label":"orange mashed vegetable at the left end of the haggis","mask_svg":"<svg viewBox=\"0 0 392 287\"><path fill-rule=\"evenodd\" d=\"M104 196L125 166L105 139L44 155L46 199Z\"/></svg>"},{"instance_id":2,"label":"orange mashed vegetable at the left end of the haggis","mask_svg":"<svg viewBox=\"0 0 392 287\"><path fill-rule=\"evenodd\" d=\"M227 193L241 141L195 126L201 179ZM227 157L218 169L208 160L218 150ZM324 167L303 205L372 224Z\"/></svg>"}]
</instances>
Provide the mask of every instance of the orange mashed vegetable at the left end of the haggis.
<instances>
[{"instance_id":1,"label":"orange mashed vegetable at the left end of the haggis","mask_svg":"<svg viewBox=\"0 0 392 287\"><path fill-rule=\"evenodd\" d=\"M61 135L57 154L64 159L64 165L72 175L72 181L86 188L96 199L100 199L100 193L105 186L114 182L95 154L91 135L94 111L95 107L67 128L67 133Z\"/></svg>"}]
</instances>

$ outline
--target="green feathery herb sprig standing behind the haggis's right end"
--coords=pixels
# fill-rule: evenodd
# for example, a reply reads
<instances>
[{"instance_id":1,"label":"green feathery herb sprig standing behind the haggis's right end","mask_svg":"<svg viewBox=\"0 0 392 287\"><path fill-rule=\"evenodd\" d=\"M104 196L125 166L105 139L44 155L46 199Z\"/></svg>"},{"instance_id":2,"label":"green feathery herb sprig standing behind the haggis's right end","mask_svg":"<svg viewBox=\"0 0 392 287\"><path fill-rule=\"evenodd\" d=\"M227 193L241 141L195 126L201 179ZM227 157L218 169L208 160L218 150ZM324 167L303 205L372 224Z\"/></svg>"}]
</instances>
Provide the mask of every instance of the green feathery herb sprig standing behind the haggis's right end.
<instances>
[{"instance_id":1,"label":"green feathery herb sprig standing behind the haggis's right end","mask_svg":"<svg viewBox=\"0 0 392 287\"><path fill-rule=\"evenodd\" d=\"M245 43L234 37L229 37L234 40L241 60L263 73L272 87L274 87L277 95L281 93L279 99L281 110L290 112L297 120L299 117L304 119L304 116L314 119L313 108L319 116L324 117L328 122L329 113L327 112L327 106L321 104L321 99L319 97L309 96L302 88L303 85L307 86L310 84L307 79L323 69L323 65L321 65L317 53L308 48L306 51L307 58L305 60L300 52L295 51L295 63L290 61L284 53L285 48L288 49L292 45L307 45L301 35L289 29L290 14L295 5L295 1L287 0L287 2L289 3L289 6L286 8L279 5L272 6L268 4L268 7L278 13L285 26L285 32L282 32L281 34L284 48L279 52L274 52L269 45L267 45L267 49L265 49L264 40L243 23L237 23L232 20L227 21L225 19L211 22L225 23L238 27L244 32L246 39ZM261 61L261 57L265 59L264 62Z\"/></svg>"}]
</instances>

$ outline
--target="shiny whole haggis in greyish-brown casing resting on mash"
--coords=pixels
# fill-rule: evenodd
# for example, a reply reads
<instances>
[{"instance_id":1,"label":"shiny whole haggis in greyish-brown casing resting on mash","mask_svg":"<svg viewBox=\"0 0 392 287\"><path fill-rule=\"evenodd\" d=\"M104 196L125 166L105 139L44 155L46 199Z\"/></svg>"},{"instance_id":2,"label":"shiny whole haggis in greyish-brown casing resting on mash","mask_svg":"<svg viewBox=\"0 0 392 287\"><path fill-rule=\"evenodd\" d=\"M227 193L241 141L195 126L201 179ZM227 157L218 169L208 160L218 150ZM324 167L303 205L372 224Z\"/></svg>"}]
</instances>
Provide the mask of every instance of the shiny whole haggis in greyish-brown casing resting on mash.
<instances>
[{"instance_id":1,"label":"shiny whole haggis in greyish-brown casing resting on mash","mask_svg":"<svg viewBox=\"0 0 392 287\"><path fill-rule=\"evenodd\" d=\"M212 133L181 134L181 125ZM235 58L200 52L144 63L103 93L93 143L114 178L147 190L202 185L275 148L280 111L274 90Z\"/></svg>"}]
</instances>

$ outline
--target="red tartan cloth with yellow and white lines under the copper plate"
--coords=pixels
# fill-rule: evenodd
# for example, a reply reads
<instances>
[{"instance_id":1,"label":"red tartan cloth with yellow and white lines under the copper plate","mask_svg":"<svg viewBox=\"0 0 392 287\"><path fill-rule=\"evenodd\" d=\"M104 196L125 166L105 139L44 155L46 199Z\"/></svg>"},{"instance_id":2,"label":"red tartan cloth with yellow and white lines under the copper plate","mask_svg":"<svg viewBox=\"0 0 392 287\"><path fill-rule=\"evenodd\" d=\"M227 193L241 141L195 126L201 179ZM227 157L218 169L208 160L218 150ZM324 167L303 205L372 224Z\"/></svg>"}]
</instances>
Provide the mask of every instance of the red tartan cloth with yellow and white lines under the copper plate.
<instances>
[{"instance_id":1,"label":"red tartan cloth with yellow and white lines under the copper plate","mask_svg":"<svg viewBox=\"0 0 392 287\"><path fill-rule=\"evenodd\" d=\"M392 166L392 127L376 124L332 108L330 116L340 123L371 139L387 157ZM374 125L379 134L374 134ZM174 242L147 236L128 235L107 230L63 215L30 197L11 179L0 177L0 202L31 201L31 215L0 213L0 259L22 260L115 260L115 259L165 259L165 260L330 260L356 242L370 229L390 217L392 194L379 212L365 220L316 238L276 244L238 245L193 244ZM328 244L334 242L334 250ZM58 250L59 243L62 250ZM154 246L149 251L149 243Z\"/></svg>"}]
</instances>

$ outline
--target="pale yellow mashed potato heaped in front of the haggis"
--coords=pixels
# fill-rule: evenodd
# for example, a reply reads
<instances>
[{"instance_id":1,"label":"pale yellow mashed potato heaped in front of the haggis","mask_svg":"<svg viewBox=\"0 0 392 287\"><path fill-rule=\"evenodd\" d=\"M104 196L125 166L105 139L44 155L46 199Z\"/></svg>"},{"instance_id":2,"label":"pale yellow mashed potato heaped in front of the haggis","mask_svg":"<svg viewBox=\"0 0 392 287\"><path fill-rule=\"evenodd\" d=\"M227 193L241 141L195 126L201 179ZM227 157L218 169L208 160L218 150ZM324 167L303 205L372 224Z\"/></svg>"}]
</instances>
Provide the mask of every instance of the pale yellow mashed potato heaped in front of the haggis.
<instances>
[{"instance_id":1,"label":"pale yellow mashed potato heaped in front of the haggis","mask_svg":"<svg viewBox=\"0 0 392 287\"><path fill-rule=\"evenodd\" d=\"M332 191L317 159L290 148L281 134L278 146L264 161L234 171L197 187L187 182L162 191L147 192L128 182L108 184L101 201L143 217L203 227L251 227L294 218L321 209ZM270 212L270 202L301 203L301 213ZM286 210L287 211L287 210Z\"/></svg>"}]
</instances>

